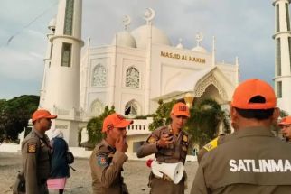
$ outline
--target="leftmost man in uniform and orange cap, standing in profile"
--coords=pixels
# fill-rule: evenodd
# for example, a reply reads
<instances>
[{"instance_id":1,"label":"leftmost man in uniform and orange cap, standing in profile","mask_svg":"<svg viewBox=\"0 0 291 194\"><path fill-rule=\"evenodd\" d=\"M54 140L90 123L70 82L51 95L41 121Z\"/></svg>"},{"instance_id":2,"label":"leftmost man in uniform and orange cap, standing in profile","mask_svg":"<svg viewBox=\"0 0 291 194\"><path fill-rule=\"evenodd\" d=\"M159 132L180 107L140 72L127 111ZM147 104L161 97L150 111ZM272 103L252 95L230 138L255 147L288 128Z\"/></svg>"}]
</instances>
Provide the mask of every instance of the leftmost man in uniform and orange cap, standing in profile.
<instances>
[{"instance_id":1,"label":"leftmost man in uniform and orange cap, standing in profile","mask_svg":"<svg viewBox=\"0 0 291 194\"><path fill-rule=\"evenodd\" d=\"M33 130L27 134L22 143L23 173L27 194L49 193L46 180L50 175L51 145L45 131L52 125L51 115L47 110L36 110L33 113Z\"/></svg>"}]
</instances>

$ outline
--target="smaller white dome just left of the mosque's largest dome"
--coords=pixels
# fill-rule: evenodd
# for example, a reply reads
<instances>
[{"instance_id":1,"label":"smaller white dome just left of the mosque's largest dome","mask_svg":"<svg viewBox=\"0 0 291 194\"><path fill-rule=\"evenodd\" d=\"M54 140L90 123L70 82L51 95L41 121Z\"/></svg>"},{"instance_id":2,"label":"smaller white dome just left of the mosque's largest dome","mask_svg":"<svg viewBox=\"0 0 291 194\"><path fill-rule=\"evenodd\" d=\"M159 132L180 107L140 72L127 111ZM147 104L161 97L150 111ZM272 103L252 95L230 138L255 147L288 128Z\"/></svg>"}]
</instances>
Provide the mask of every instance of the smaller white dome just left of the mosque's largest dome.
<instances>
[{"instance_id":1,"label":"smaller white dome just left of the mosque's largest dome","mask_svg":"<svg viewBox=\"0 0 291 194\"><path fill-rule=\"evenodd\" d=\"M135 38L127 31L117 32L112 40L112 44L117 44L117 46L136 48Z\"/></svg>"}]
</instances>

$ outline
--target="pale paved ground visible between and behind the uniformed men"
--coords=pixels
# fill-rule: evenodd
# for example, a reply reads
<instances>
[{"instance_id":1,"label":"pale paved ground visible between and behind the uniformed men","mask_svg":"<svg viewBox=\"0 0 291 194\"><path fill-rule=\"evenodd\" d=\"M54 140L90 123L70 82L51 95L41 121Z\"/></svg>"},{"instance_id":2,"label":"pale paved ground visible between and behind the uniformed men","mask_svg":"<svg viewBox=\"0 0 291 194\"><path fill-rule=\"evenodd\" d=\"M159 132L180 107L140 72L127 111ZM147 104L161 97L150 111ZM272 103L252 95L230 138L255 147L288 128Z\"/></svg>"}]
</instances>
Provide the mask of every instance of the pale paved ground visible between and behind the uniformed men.
<instances>
[{"instance_id":1,"label":"pale paved ground visible between and behind the uniformed men","mask_svg":"<svg viewBox=\"0 0 291 194\"><path fill-rule=\"evenodd\" d=\"M91 176L88 159L76 159L72 166L77 171L70 171L71 177L67 182L65 193L91 193ZM187 162L185 165L189 177L189 188L192 186L192 180L197 167L197 162ZM21 168L20 153L0 152L0 194L11 193L9 187L13 184L17 171L21 170ZM125 163L124 169L123 176L131 194L149 193L147 180L150 169L146 167L146 162L128 161ZM56 192L52 191L50 193ZM189 193L189 189L185 193Z\"/></svg>"}]
</instances>

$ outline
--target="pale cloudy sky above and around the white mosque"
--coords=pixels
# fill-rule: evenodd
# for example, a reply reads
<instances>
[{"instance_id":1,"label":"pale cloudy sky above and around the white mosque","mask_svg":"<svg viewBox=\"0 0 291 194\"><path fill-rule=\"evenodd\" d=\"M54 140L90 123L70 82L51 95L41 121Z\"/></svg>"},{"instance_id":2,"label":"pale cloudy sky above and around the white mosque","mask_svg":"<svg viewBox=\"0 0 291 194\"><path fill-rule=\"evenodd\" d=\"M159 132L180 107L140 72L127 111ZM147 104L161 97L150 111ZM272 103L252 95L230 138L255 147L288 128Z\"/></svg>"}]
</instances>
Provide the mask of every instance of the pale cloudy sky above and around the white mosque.
<instances>
[{"instance_id":1,"label":"pale cloudy sky above and around the white mosque","mask_svg":"<svg viewBox=\"0 0 291 194\"><path fill-rule=\"evenodd\" d=\"M0 99L39 95L47 25L57 14L59 0L1 0ZM130 30L145 24L147 7L155 10L154 24L176 45L202 46L211 51L216 37L217 60L234 63L239 57L240 80L274 77L274 7L271 0L83 0L82 39L109 44L123 30L122 18L132 18Z\"/></svg>"}]
</instances>

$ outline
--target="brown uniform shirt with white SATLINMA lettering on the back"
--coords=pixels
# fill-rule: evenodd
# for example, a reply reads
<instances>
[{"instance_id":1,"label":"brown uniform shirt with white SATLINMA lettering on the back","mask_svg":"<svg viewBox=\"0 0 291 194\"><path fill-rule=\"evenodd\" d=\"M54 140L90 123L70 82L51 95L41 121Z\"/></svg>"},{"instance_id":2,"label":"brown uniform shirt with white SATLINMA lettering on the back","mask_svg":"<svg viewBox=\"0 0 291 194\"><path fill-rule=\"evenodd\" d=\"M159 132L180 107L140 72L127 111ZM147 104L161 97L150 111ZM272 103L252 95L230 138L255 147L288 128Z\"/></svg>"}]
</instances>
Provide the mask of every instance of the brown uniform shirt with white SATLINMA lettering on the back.
<instances>
[{"instance_id":1,"label":"brown uniform shirt with white SATLINMA lettering on the back","mask_svg":"<svg viewBox=\"0 0 291 194\"><path fill-rule=\"evenodd\" d=\"M291 193L291 146L271 129L239 130L231 141L207 152L191 194Z\"/></svg>"}]
</instances>

